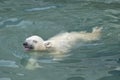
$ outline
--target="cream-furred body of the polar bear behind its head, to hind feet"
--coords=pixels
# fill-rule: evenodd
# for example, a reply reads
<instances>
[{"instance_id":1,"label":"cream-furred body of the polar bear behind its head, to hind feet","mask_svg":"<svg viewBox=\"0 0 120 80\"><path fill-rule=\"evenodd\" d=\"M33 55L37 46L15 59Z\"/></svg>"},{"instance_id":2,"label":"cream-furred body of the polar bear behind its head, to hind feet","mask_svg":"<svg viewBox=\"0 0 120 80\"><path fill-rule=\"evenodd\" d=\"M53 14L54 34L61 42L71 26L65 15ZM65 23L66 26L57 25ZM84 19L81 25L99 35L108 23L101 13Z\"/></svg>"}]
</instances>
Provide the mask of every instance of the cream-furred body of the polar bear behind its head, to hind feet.
<instances>
[{"instance_id":1,"label":"cream-furred body of the polar bear behind its head, to hind feet","mask_svg":"<svg viewBox=\"0 0 120 80\"><path fill-rule=\"evenodd\" d=\"M102 28L95 27L93 28L92 32L80 31L80 32L60 33L48 39L48 41L52 43L52 47L55 50L66 53L78 41L90 42L90 41L98 40L101 35L101 29Z\"/></svg>"}]
</instances>

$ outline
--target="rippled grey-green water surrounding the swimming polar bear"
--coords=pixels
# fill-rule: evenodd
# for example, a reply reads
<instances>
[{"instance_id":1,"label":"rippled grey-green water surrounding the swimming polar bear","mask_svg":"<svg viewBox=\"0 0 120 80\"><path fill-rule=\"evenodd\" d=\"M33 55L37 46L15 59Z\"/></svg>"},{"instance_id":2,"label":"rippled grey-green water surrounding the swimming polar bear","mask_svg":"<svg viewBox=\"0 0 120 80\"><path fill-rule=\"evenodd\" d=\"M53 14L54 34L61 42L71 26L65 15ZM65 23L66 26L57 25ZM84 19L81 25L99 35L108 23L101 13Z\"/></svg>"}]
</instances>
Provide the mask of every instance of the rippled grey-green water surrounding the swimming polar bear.
<instances>
[{"instance_id":1,"label":"rippled grey-green water surrounding the swimming polar bear","mask_svg":"<svg viewBox=\"0 0 120 80\"><path fill-rule=\"evenodd\" d=\"M61 61L43 54L41 68L25 68L26 37L95 26L103 27L99 41L78 44ZM0 0L0 80L119 80L119 49L119 0Z\"/></svg>"}]
</instances>

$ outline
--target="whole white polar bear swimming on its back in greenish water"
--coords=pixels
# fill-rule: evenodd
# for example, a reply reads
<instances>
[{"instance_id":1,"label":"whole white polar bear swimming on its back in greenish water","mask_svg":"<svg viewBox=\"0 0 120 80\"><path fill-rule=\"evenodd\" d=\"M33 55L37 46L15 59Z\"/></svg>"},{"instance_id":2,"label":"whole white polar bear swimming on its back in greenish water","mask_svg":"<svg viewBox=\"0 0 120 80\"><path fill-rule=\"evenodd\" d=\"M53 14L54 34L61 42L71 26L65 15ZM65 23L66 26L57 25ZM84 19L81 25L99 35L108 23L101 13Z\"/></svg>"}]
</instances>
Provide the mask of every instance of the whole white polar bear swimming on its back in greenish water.
<instances>
[{"instance_id":1,"label":"whole white polar bear swimming on its back in greenish water","mask_svg":"<svg viewBox=\"0 0 120 80\"><path fill-rule=\"evenodd\" d=\"M25 50L34 50L40 52L49 52L54 55L54 60L63 57L64 53L68 53L70 49L77 44L78 41L94 41L99 40L102 27L93 28L92 32L65 32L55 35L54 37L43 40L39 36L28 37L23 46Z\"/></svg>"}]
</instances>

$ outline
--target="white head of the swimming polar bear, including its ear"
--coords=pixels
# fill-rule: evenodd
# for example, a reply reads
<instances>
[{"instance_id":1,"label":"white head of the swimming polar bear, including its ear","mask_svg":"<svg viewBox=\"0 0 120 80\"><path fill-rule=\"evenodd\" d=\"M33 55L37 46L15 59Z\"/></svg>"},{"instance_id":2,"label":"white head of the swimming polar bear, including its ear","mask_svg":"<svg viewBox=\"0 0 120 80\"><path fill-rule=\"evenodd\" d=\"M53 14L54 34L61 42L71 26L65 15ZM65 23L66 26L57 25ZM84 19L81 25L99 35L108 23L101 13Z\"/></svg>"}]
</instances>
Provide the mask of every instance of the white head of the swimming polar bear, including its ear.
<instances>
[{"instance_id":1,"label":"white head of the swimming polar bear, including its ear","mask_svg":"<svg viewBox=\"0 0 120 80\"><path fill-rule=\"evenodd\" d=\"M44 41L41 37L34 35L28 37L23 46L25 50L45 51L51 45L50 42Z\"/></svg>"}]
</instances>

